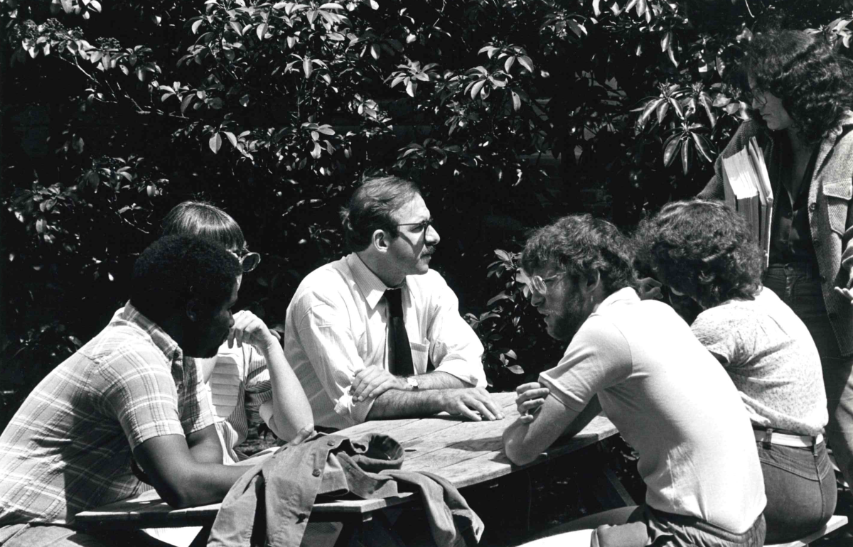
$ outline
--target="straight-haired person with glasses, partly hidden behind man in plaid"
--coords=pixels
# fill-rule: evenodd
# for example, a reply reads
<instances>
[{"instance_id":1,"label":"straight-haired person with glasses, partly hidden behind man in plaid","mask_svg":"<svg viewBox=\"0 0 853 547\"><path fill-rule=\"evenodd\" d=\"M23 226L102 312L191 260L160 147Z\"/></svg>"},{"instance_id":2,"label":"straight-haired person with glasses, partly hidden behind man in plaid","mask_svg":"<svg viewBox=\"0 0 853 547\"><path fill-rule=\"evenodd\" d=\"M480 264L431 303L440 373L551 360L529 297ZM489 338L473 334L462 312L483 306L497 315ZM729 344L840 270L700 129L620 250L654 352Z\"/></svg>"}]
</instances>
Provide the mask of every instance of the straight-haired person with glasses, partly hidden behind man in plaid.
<instances>
[{"instance_id":1,"label":"straight-haired person with glasses, partly hidden behind man in plaid","mask_svg":"<svg viewBox=\"0 0 853 547\"><path fill-rule=\"evenodd\" d=\"M223 245L241 263L242 273L258 267L261 256L247 249L243 231L218 207L200 201L177 204L163 219L163 235L189 235ZM238 288L242 276L238 278ZM263 421L281 440L299 443L314 431L314 418L299 380L284 357L278 334L248 310L234 314L235 325L215 357L195 359L207 384L225 464L246 456L238 448L250 424Z\"/></svg>"}]
</instances>

